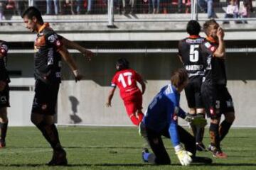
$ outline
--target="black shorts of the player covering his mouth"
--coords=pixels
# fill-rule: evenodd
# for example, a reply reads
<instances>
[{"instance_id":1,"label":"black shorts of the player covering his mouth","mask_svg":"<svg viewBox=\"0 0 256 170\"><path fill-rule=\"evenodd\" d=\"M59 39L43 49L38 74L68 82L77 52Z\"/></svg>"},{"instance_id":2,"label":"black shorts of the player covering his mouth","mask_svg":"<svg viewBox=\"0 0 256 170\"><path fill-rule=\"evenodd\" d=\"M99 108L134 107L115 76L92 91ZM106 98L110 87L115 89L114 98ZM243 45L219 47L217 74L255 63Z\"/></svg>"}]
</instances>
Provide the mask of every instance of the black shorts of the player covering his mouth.
<instances>
[{"instance_id":1,"label":"black shorts of the player covering his mouth","mask_svg":"<svg viewBox=\"0 0 256 170\"><path fill-rule=\"evenodd\" d=\"M226 86L203 83L201 93L208 118L220 118L222 113L235 111Z\"/></svg>"}]
</instances>

